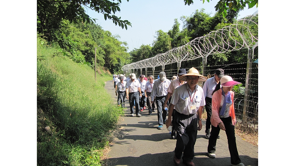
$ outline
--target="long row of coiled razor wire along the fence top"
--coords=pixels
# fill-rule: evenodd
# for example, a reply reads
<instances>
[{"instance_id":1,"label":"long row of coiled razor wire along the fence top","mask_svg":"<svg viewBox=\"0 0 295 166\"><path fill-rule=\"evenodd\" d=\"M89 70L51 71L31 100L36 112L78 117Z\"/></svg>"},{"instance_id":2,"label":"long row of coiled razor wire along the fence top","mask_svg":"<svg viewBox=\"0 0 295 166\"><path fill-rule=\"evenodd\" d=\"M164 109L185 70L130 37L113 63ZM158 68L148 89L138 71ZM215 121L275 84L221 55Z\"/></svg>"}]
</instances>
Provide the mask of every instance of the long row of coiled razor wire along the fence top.
<instances>
[{"instance_id":1,"label":"long row of coiled razor wire along the fence top","mask_svg":"<svg viewBox=\"0 0 295 166\"><path fill-rule=\"evenodd\" d=\"M258 45L258 11L238 20L235 24L212 31L195 38L187 44L173 48L166 53L124 65L122 70L142 69L194 60L210 54L226 53Z\"/></svg>"}]
</instances>

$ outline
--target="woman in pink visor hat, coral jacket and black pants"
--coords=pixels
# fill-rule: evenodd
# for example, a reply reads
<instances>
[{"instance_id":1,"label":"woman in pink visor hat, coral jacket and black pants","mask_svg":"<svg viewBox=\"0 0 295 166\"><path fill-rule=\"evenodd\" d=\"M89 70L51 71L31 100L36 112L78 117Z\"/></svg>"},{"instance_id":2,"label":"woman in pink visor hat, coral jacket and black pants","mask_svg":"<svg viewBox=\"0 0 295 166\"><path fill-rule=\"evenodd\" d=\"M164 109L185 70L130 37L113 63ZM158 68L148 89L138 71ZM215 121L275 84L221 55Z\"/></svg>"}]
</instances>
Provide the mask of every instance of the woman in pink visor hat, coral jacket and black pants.
<instances>
[{"instance_id":1,"label":"woman in pink visor hat, coral jacket and black pants","mask_svg":"<svg viewBox=\"0 0 295 166\"><path fill-rule=\"evenodd\" d=\"M209 157L215 158L217 136L220 129L224 130L227 136L232 166L244 166L239 158L236 137L234 135L236 117L234 113L234 92L231 89L238 84L241 84L241 82L234 81L230 76L223 76L213 91L212 116L210 119L212 130L207 149Z\"/></svg>"}]
</instances>

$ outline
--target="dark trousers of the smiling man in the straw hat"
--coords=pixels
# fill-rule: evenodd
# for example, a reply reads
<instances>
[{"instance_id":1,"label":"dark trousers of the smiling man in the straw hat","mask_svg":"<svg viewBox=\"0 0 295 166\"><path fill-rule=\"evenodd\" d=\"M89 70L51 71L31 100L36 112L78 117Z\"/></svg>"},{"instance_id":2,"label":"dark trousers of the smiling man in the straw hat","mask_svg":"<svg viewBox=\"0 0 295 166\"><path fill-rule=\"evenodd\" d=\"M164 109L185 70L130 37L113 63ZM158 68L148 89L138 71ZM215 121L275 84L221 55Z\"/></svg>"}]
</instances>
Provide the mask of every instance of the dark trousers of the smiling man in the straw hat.
<instances>
[{"instance_id":1,"label":"dark trousers of the smiling man in the straw hat","mask_svg":"<svg viewBox=\"0 0 295 166\"><path fill-rule=\"evenodd\" d=\"M198 114L184 115L174 113L174 125L177 133L175 156L180 159L183 153L183 162L190 162L195 156L195 143L198 133Z\"/></svg>"}]
</instances>

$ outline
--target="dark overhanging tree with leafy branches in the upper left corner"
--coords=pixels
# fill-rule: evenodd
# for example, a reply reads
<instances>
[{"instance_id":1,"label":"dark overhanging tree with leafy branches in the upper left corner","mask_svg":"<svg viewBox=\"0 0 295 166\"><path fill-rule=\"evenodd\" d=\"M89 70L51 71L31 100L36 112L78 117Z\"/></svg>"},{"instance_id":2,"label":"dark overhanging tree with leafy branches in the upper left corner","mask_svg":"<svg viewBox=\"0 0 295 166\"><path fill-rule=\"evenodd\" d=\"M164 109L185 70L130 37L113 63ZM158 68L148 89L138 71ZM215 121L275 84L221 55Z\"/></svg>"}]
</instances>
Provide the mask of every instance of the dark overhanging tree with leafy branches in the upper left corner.
<instances>
[{"instance_id":1,"label":"dark overhanging tree with leafy branches in the upper left corner","mask_svg":"<svg viewBox=\"0 0 295 166\"><path fill-rule=\"evenodd\" d=\"M122 20L114 14L120 11L121 0L37 0L37 32L43 34L48 41L60 40L54 34L60 30L61 21L63 19L70 22L92 22L89 15L85 13L85 8L95 10L98 13L104 14L104 19L113 20L115 25L119 25L127 30L127 25L131 26L128 20ZM129 0L127 0L129 1Z\"/></svg>"}]
</instances>

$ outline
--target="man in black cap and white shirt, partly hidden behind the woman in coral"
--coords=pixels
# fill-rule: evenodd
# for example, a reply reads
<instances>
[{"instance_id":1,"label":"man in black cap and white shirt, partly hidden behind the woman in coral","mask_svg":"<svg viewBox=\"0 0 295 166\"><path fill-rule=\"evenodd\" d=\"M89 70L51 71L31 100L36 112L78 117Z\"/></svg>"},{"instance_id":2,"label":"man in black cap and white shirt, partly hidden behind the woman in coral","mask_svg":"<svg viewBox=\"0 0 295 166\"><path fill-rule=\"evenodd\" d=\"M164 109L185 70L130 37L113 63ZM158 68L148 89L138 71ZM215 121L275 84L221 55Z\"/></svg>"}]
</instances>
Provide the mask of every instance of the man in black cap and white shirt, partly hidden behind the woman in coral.
<instances>
[{"instance_id":1,"label":"man in black cap and white shirt, partly hidden behind the woman in coral","mask_svg":"<svg viewBox=\"0 0 295 166\"><path fill-rule=\"evenodd\" d=\"M224 70L223 69L216 69L214 77L209 78L206 80L206 82L203 85L204 95L205 95L205 101L206 101L206 113L207 113L207 120L206 120L206 138L209 139L210 137L210 118L212 115L212 92L214 91L216 85L219 83L221 77L224 76ZM219 139L220 136L217 137Z\"/></svg>"}]
</instances>

